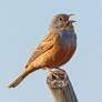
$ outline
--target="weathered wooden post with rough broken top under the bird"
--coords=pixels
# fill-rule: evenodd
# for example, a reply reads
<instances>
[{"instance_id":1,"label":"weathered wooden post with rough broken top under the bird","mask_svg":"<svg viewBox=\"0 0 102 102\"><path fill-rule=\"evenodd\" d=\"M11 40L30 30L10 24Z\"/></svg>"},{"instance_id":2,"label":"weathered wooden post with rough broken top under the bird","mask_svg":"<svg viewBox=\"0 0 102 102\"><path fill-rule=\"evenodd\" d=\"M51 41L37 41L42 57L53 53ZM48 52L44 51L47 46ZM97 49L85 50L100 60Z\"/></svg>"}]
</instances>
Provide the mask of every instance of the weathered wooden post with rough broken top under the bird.
<instances>
[{"instance_id":1,"label":"weathered wooden post with rough broken top under the bird","mask_svg":"<svg viewBox=\"0 0 102 102\"><path fill-rule=\"evenodd\" d=\"M72 84L65 71L54 71L54 74L47 78L47 83L51 90L55 102L78 102Z\"/></svg>"}]
</instances>

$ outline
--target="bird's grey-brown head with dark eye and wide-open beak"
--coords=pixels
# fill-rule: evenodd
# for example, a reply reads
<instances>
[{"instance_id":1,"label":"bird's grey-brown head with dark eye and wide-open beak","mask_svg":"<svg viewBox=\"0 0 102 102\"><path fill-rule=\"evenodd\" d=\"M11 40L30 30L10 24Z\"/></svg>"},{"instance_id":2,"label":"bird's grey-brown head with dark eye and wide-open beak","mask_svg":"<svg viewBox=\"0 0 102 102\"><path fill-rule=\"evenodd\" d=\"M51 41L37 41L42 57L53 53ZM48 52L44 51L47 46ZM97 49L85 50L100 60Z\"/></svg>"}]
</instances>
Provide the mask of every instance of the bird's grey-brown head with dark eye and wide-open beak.
<instances>
[{"instance_id":1,"label":"bird's grey-brown head with dark eye and wide-open beak","mask_svg":"<svg viewBox=\"0 0 102 102\"><path fill-rule=\"evenodd\" d=\"M69 20L73 14L57 14L50 24L50 31L58 31L68 26L72 26L73 20Z\"/></svg>"}]
</instances>

